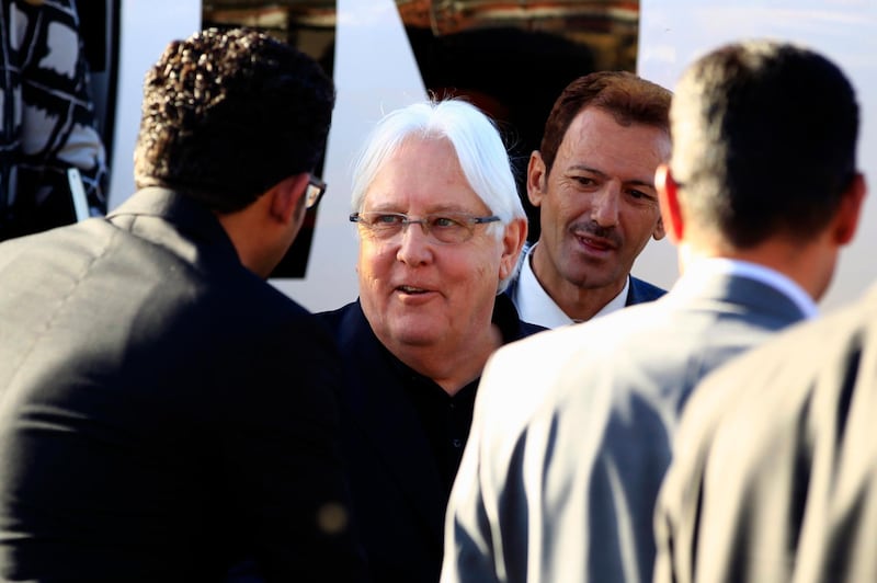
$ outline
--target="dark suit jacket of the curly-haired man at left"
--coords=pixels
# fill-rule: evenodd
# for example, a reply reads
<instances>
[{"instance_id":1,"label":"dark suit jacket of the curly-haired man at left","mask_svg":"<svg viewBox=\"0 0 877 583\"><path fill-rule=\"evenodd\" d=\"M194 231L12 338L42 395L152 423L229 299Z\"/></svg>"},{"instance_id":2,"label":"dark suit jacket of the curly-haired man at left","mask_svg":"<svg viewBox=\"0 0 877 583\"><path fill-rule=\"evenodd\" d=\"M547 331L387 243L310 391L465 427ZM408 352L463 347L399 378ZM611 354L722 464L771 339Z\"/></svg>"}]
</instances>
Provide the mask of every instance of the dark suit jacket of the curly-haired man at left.
<instances>
[{"instance_id":1,"label":"dark suit jacket of the curly-haired man at left","mask_svg":"<svg viewBox=\"0 0 877 583\"><path fill-rule=\"evenodd\" d=\"M351 580L337 348L210 213L149 188L3 243L0 322L0 579Z\"/></svg>"}]
</instances>

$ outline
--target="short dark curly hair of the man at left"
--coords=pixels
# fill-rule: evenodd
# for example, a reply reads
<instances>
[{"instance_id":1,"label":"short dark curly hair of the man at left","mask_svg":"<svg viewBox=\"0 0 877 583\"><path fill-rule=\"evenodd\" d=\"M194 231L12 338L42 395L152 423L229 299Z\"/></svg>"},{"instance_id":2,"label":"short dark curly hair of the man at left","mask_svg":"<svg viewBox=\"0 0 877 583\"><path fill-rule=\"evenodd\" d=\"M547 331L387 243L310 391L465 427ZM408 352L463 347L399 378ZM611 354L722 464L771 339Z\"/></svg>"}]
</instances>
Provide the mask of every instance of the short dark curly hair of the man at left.
<instances>
[{"instance_id":1,"label":"short dark curly hair of the man at left","mask_svg":"<svg viewBox=\"0 0 877 583\"><path fill-rule=\"evenodd\" d=\"M293 46L249 28L171 43L146 76L139 187L172 187L219 213L309 172L323 155L334 87Z\"/></svg>"}]
</instances>

